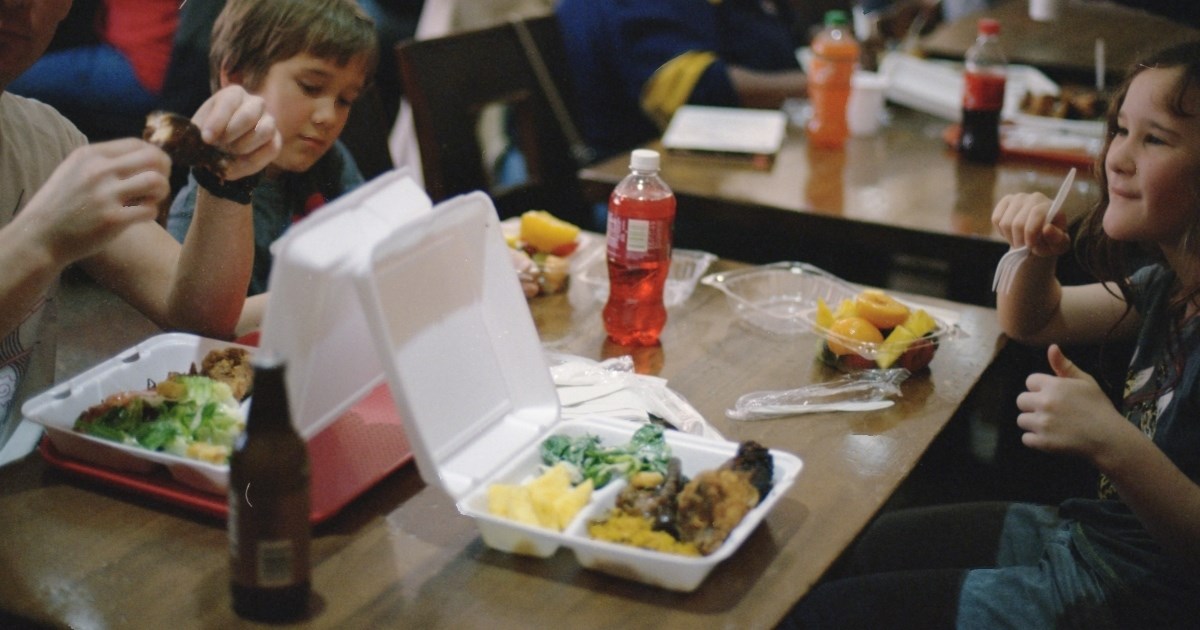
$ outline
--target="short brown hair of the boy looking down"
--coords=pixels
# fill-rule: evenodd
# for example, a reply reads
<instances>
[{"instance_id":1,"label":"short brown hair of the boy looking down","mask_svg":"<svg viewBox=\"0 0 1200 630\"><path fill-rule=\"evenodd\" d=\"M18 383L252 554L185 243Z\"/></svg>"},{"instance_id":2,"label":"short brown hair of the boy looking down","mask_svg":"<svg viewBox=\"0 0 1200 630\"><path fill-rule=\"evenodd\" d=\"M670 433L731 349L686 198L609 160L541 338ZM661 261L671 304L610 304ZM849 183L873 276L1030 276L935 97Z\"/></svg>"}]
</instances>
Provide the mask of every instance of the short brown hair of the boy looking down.
<instances>
[{"instance_id":1,"label":"short brown hair of the boy looking down","mask_svg":"<svg viewBox=\"0 0 1200 630\"><path fill-rule=\"evenodd\" d=\"M272 65L305 53L340 66L366 55L370 82L379 59L374 20L354 0L229 0L212 25L212 90L222 71L257 89Z\"/></svg>"}]
</instances>

